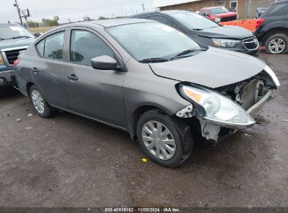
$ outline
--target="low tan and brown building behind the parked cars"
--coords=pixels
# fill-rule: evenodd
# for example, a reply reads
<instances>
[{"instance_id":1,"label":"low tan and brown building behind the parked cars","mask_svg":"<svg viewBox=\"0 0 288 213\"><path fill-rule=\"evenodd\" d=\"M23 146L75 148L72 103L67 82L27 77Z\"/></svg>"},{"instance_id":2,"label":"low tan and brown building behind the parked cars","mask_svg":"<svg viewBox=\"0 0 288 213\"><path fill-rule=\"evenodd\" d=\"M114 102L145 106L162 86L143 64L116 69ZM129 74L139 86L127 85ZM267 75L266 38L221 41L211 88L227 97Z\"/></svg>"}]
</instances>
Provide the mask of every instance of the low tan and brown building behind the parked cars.
<instances>
[{"instance_id":1,"label":"low tan and brown building behind the parked cars","mask_svg":"<svg viewBox=\"0 0 288 213\"><path fill-rule=\"evenodd\" d=\"M160 8L160 11L181 9L196 12L200 11L200 8L210 6L225 6L228 10L230 8L235 8L239 18L242 19L255 18L256 8L266 8L274 1L275 0L194 0L186 1L182 4L169 4L169 1L165 1L164 4L158 5L158 7Z\"/></svg>"}]
</instances>

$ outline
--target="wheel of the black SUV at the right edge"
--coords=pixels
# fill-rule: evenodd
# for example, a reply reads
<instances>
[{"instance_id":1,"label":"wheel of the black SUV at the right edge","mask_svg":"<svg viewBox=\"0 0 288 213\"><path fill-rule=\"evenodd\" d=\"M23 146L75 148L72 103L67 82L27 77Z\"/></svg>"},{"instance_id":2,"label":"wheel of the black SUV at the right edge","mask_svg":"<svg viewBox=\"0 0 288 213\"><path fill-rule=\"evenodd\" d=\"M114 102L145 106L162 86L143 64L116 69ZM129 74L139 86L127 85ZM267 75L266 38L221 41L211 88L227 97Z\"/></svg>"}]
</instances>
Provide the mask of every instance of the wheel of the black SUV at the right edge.
<instances>
[{"instance_id":1,"label":"wheel of the black SUV at the right edge","mask_svg":"<svg viewBox=\"0 0 288 213\"><path fill-rule=\"evenodd\" d=\"M274 41L274 42L273 42ZM278 44L276 44L276 43ZM279 46L281 45L281 46ZM273 46L275 48L273 48ZM288 52L288 36L286 34L272 34L265 41L265 50L270 54L282 54Z\"/></svg>"}]
</instances>

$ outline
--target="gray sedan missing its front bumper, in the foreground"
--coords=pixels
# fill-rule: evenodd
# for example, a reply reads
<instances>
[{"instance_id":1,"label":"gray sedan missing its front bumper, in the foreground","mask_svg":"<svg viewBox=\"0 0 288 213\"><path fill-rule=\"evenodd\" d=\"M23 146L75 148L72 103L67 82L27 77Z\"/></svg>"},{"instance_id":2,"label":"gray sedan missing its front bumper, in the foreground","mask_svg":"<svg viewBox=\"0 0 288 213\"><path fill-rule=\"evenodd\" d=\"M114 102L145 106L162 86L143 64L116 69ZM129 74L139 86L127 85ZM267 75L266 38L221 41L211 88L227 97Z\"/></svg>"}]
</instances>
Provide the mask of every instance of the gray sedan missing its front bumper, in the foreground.
<instances>
[{"instance_id":1,"label":"gray sedan missing its front bumper, in the foreground","mask_svg":"<svg viewBox=\"0 0 288 213\"><path fill-rule=\"evenodd\" d=\"M217 144L254 125L280 85L255 57L137 19L52 29L20 55L15 71L39 116L61 109L125 130L167 167L190 156L195 135Z\"/></svg>"}]
</instances>

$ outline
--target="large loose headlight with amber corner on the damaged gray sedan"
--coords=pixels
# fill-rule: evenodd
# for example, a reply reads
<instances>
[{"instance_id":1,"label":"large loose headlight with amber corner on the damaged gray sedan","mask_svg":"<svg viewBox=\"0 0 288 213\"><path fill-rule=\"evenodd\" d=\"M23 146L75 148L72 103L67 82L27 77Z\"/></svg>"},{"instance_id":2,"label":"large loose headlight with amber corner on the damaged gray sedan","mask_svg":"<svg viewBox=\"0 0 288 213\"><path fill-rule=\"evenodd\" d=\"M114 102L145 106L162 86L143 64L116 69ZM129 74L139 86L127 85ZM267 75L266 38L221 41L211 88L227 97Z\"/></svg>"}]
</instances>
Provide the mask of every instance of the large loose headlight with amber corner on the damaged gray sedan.
<instances>
[{"instance_id":1,"label":"large loose headlight with amber corner on the damaged gray sedan","mask_svg":"<svg viewBox=\"0 0 288 213\"><path fill-rule=\"evenodd\" d=\"M179 91L192 102L204 121L234 129L248 128L255 123L242 107L218 92L192 84L180 85Z\"/></svg>"}]
</instances>

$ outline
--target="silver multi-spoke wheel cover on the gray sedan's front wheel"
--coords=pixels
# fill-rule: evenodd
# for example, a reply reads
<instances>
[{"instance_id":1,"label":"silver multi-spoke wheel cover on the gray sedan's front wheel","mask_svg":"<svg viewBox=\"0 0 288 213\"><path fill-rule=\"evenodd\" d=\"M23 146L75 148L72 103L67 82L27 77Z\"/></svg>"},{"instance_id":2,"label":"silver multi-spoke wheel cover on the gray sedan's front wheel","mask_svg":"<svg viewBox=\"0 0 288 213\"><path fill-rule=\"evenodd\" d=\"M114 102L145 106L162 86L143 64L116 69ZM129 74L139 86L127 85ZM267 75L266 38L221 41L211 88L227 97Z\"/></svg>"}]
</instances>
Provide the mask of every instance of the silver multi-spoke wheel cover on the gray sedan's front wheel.
<instances>
[{"instance_id":1,"label":"silver multi-spoke wheel cover on the gray sedan's front wheel","mask_svg":"<svg viewBox=\"0 0 288 213\"><path fill-rule=\"evenodd\" d=\"M146 149L160 160L171 159L176 152L176 143L170 130L158 121L148 121L142 128Z\"/></svg>"}]
</instances>

